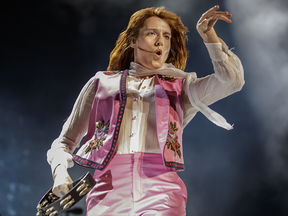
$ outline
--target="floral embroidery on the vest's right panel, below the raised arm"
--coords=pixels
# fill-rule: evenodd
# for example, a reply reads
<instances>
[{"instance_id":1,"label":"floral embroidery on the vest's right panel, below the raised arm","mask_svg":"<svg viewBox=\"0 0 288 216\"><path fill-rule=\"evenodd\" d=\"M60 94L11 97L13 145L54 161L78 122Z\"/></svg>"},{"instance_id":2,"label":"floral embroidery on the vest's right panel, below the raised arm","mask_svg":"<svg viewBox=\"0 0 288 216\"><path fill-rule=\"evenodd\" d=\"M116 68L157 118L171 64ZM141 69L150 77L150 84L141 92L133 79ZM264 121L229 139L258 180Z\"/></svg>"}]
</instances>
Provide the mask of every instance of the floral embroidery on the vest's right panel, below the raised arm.
<instances>
[{"instance_id":1,"label":"floral embroidery on the vest's right panel, below the raised arm","mask_svg":"<svg viewBox=\"0 0 288 216\"><path fill-rule=\"evenodd\" d=\"M176 135L176 131L178 131L178 128L176 127L176 122L174 122L174 124L170 122L166 145L168 149L174 151L175 156L176 154L178 154L178 156L181 158L181 145L180 143L178 143L178 136Z\"/></svg>"}]
</instances>

